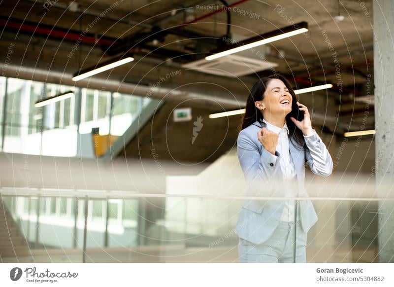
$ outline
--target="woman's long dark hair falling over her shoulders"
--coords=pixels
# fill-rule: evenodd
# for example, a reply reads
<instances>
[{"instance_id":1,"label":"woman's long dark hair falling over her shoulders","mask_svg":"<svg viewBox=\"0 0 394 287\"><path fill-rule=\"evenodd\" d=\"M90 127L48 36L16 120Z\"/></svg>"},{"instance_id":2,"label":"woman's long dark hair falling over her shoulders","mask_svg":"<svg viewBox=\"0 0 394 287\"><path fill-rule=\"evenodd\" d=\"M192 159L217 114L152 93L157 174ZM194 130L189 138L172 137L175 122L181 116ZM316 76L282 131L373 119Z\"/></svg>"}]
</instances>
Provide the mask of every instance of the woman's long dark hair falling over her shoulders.
<instances>
[{"instance_id":1,"label":"woman's long dark hair falling over her shoulders","mask_svg":"<svg viewBox=\"0 0 394 287\"><path fill-rule=\"evenodd\" d=\"M264 99L265 90L268 83L272 79L280 79L286 85L286 87L289 89L289 93L292 95L292 111L286 116L286 123L287 127L289 128L289 140L295 142L296 145L298 145L298 148L302 148L305 143L302 131L298 129L296 124L290 119L292 115L294 116L294 114L298 112L298 106L296 104L298 99L289 81L283 75L278 73L263 77L253 85L246 102L245 116L240 130L247 128L256 121L259 121L263 125L263 114L260 109L256 108L255 102L262 101Z\"/></svg>"}]
</instances>

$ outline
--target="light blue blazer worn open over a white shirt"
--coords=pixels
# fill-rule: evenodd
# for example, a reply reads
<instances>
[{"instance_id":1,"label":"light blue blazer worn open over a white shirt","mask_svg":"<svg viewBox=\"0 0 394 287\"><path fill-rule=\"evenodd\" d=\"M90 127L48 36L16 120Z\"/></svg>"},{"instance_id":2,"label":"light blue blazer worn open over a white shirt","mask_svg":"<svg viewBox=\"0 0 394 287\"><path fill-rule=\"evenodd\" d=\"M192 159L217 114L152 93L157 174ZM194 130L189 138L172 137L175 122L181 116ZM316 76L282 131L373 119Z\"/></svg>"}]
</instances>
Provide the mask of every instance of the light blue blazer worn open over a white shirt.
<instances>
[{"instance_id":1,"label":"light blue blazer worn open over a white shirt","mask_svg":"<svg viewBox=\"0 0 394 287\"><path fill-rule=\"evenodd\" d=\"M266 151L257 138L261 123L243 129L237 140L237 154L244 173L248 196L285 197L283 175L279 166L280 154L273 155ZM290 156L294 162L296 179L295 188L298 197L308 197L304 188L305 162L313 173L328 177L332 172L332 159L326 145L316 132L304 137L306 148L299 149L289 140ZM240 238L254 244L262 244L267 240L279 223L283 212L283 200L245 200L238 216L235 232ZM299 200L297 213L305 232L316 223L317 215L312 202Z\"/></svg>"}]
</instances>

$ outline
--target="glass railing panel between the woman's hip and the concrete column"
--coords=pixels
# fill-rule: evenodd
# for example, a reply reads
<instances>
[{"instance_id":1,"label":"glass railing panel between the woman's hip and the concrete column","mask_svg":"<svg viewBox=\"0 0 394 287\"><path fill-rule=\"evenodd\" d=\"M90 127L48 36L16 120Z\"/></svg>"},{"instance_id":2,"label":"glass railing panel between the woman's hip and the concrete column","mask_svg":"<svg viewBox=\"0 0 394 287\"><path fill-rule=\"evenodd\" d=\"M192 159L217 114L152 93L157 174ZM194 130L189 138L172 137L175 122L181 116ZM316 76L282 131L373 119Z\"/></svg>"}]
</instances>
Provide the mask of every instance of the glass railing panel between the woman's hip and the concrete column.
<instances>
[{"instance_id":1,"label":"glass railing panel between the woman's hip and the concrete column","mask_svg":"<svg viewBox=\"0 0 394 287\"><path fill-rule=\"evenodd\" d=\"M319 220L307 234L307 262L379 262L377 201L315 201L314 206Z\"/></svg>"}]
</instances>

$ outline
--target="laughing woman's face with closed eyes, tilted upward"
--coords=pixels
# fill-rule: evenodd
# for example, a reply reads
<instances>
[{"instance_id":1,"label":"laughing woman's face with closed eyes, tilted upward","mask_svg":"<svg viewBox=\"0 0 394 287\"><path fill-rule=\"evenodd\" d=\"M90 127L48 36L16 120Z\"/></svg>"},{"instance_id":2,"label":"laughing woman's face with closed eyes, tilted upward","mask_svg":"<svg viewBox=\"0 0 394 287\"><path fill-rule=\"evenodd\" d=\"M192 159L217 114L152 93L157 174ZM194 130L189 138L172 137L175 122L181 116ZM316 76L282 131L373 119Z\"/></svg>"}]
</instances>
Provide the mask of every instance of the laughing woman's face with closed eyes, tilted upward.
<instances>
[{"instance_id":1,"label":"laughing woman's face with closed eyes, tilted upward","mask_svg":"<svg viewBox=\"0 0 394 287\"><path fill-rule=\"evenodd\" d=\"M260 106L263 116L267 114L275 116L283 114L286 116L292 111L292 100L293 97L285 83L280 79L272 79L267 84L264 99L256 102L255 105L257 108Z\"/></svg>"}]
</instances>

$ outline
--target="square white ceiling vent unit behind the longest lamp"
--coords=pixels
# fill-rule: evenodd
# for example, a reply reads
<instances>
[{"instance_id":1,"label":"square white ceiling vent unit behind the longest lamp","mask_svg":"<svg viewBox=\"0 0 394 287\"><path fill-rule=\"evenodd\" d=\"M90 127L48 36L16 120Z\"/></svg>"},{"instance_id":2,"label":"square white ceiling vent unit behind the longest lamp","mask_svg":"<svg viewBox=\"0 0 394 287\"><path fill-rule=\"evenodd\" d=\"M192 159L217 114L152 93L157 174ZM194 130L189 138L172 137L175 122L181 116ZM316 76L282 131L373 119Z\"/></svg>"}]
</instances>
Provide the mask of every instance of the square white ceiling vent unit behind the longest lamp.
<instances>
[{"instance_id":1,"label":"square white ceiling vent unit behind the longest lamp","mask_svg":"<svg viewBox=\"0 0 394 287\"><path fill-rule=\"evenodd\" d=\"M201 59L184 64L182 68L226 77L237 77L268 70L277 66L278 64L276 63L239 55L229 55L210 61Z\"/></svg>"}]
</instances>

